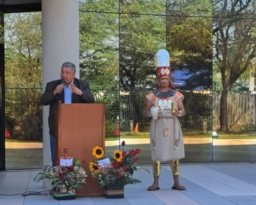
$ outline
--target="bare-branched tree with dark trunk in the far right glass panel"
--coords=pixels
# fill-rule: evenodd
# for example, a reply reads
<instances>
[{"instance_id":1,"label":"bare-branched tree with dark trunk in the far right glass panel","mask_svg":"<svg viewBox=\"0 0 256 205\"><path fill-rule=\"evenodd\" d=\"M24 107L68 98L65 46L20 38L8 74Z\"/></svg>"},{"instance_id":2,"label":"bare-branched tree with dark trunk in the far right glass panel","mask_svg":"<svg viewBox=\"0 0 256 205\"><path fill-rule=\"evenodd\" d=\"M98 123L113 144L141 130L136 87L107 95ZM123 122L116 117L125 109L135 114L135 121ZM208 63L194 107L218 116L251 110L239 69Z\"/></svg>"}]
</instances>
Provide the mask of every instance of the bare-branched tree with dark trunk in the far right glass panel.
<instances>
[{"instance_id":1,"label":"bare-branched tree with dark trunk in the far right glass panel","mask_svg":"<svg viewBox=\"0 0 256 205\"><path fill-rule=\"evenodd\" d=\"M252 16L253 1L218 1L218 18L214 19L214 59L221 72L223 91L221 94L220 125L228 132L227 94L234 83L248 69L256 54L255 19Z\"/></svg>"}]
</instances>

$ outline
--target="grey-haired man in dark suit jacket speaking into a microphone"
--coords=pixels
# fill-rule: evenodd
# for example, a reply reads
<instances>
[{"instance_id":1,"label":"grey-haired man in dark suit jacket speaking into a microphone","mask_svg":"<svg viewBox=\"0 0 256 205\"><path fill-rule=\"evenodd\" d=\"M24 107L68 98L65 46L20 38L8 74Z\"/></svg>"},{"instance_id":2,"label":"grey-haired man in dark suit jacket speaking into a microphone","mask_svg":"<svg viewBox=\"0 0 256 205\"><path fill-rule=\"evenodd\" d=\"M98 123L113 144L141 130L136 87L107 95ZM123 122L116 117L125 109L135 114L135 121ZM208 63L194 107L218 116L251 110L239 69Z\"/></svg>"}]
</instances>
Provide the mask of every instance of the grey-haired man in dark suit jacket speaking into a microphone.
<instances>
[{"instance_id":1,"label":"grey-haired man in dark suit jacket speaking into a microphone","mask_svg":"<svg viewBox=\"0 0 256 205\"><path fill-rule=\"evenodd\" d=\"M76 66L65 62L61 66L60 79L47 83L46 90L41 96L43 106L50 105L48 124L50 129L50 146L52 163L55 164L55 123L54 112L61 103L94 103L94 96L89 83L75 78Z\"/></svg>"}]
</instances>

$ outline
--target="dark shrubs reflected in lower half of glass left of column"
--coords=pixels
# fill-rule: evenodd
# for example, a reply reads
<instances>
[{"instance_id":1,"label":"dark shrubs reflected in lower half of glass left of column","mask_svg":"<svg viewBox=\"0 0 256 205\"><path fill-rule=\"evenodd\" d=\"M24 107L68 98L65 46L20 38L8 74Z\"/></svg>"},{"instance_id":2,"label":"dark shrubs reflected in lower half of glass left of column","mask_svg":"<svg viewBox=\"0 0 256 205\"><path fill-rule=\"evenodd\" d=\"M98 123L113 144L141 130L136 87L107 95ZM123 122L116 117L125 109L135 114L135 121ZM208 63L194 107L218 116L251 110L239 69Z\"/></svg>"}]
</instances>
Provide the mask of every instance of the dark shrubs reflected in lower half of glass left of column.
<instances>
[{"instance_id":1,"label":"dark shrubs reflected in lower half of glass left of column","mask_svg":"<svg viewBox=\"0 0 256 205\"><path fill-rule=\"evenodd\" d=\"M41 89L7 89L5 123L11 137L42 141ZM15 130L16 126L20 130Z\"/></svg>"}]
</instances>

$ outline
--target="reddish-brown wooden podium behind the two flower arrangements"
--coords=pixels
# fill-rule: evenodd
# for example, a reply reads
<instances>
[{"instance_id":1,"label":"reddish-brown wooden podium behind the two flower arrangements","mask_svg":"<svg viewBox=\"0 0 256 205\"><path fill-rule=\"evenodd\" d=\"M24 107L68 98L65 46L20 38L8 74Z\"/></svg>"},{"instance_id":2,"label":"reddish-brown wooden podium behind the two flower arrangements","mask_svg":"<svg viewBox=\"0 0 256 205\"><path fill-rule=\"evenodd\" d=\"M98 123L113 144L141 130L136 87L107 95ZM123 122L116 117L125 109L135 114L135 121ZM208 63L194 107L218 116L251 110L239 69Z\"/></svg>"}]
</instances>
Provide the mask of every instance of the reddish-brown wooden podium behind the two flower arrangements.
<instances>
[{"instance_id":1,"label":"reddish-brown wooden podium behind the two flower arrangements","mask_svg":"<svg viewBox=\"0 0 256 205\"><path fill-rule=\"evenodd\" d=\"M98 186L89 170L93 147L104 149L105 139L105 104L59 104L55 113L55 159L63 157L64 148L73 159L86 160L84 168L88 177L81 189L76 189L77 197L104 196L103 188Z\"/></svg>"}]
</instances>

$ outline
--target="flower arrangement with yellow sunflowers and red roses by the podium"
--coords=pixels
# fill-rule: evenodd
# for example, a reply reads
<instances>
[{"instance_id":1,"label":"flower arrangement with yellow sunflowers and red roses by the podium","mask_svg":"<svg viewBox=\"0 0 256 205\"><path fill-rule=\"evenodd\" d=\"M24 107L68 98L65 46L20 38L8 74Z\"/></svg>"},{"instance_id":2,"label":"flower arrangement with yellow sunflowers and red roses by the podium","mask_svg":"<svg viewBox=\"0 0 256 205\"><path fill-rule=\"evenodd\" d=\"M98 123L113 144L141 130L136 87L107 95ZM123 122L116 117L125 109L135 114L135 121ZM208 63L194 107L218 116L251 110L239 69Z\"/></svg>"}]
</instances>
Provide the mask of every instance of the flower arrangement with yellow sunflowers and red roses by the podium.
<instances>
[{"instance_id":1,"label":"flower arrangement with yellow sunflowers and red roses by the podium","mask_svg":"<svg viewBox=\"0 0 256 205\"><path fill-rule=\"evenodd\" d=\"M109 158L104 157L104 150L101 147L95 146L93 148L92 154L98 161L90 162L89 168L92 177L98 180L100 187L119 187L141 182L133 178L134 171L140 168L136 164L138 162L137 155L141 150L138 148L126 152L123 151L125 142L123 141L121 145L122 151L115 150L114 155ZM149 172L147 169L145 170Z\"/></svg>"}]
</instances>

